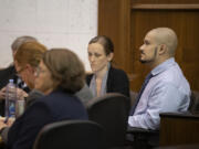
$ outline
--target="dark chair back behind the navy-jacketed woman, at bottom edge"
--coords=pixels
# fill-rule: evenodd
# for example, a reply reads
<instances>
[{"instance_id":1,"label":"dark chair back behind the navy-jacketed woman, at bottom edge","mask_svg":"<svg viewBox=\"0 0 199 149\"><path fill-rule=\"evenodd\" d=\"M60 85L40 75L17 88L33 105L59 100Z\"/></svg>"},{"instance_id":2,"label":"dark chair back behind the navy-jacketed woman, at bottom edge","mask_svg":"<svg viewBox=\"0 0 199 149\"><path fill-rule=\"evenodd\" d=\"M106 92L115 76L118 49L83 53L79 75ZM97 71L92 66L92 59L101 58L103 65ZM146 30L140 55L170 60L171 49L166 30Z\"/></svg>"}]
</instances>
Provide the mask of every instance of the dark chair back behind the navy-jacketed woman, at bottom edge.
<instances>
[{"instance_id":1,"label":"dark chair back behind the navy-jacketed woman, at bottom edge","mask_svg":"<svg viewBox=\"0 0 199 149\"><path fill-rule=\"evenodd\" d=\"M90 120L64 120L44 126L33 149L104 149L102 126Z\"/></svg>"}]
</instances>

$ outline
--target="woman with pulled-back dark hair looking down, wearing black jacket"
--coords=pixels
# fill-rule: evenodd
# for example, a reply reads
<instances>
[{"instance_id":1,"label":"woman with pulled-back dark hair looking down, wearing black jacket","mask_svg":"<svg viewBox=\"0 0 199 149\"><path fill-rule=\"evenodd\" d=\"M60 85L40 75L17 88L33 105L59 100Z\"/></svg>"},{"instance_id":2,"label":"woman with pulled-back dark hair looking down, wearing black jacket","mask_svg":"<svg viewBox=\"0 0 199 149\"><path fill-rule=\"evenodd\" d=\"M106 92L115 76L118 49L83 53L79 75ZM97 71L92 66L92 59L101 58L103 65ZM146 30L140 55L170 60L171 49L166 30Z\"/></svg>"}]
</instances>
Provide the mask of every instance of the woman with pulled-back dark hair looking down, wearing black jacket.
<instances>
[{"instance_id":1,"label":"woman with pulled-back dark hair looking down, wearing black jacket","mask_svg":"<svg viewBox=\"0 0 199 149\"><path fill-rule=\"evenodd\" d=\"M112 66L114 45L104 35L93 38L88 43L88 61L93 74L86 76L86 83L94 96L106 93L121 93L129 97L129 81L126 73Z\"/></svg>"}]
</instances>

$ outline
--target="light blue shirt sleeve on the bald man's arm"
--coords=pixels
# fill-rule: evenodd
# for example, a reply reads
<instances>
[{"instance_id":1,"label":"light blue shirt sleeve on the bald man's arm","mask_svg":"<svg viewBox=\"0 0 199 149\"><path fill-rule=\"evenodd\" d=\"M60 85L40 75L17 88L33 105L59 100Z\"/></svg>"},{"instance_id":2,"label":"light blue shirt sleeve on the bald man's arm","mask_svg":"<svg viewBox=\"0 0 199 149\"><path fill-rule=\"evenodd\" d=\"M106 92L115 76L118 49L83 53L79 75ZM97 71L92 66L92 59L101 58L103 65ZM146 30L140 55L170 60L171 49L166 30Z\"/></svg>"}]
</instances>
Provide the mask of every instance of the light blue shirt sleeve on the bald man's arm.
<instances>
[{"instance_id":1,"label":"light blue shirt sleeve on the bald man's arm","mask_svg":"<svg viewBox=\"0 0 199 149\"><path fill-rule=\"evenodd\" d=\"M160 82L150 92L145 113L128 117L130 127L145 129L158 129L160 123L160 113L187 110L188 98L170 84Z\"/></svg>"}]
</instances>

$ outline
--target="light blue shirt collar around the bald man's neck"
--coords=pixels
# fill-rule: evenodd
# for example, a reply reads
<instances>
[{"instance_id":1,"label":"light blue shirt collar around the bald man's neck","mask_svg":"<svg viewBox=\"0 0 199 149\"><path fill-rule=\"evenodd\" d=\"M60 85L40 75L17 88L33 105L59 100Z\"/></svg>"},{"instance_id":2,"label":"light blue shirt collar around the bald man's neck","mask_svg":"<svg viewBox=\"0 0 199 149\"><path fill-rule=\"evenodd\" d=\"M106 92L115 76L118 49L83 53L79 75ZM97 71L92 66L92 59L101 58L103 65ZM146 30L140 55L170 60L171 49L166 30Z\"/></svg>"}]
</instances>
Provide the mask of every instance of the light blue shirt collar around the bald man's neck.
<instances>
[{"instance_id":1,"label":"light blue shirt collar around the bald man's neck","mask_svg":"<svg viewBox=\"0 0 199 149\"><path fill-rule=\"evenodd\" d=\"M176 64L175 58L174 57L168 58L167 61L159 64L151 71L153 76L158 75L159 73L164 72L165 70L167 70L168 67L170 67L174 64Z\"/></svg>"}]
</instances>

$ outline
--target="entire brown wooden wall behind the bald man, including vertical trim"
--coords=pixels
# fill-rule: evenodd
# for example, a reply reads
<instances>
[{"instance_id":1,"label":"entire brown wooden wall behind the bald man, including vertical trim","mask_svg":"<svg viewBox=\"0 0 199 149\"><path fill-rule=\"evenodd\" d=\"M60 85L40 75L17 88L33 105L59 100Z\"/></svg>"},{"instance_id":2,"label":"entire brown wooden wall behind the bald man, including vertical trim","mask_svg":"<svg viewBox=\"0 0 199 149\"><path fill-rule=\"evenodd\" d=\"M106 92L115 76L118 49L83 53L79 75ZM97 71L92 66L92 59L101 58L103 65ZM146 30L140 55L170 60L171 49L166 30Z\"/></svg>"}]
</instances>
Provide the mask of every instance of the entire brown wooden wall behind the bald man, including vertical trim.
<instances>
[{"instance_id":1,"label":"entire brown wooden wall behind the bald man, including vertical trim","mask_svg":"<svg viewBox=\"0 0 199 149\"><path fill-rule=\"evenodd\" d=\"M138 61L138 49L145 34L158 26L176 31L176 61L191 89L199 91L199 0L100 0L98 4L98 34L114 40L114 61L128 73L133 91L139 91L149 72ZM108 6L114 7L107 9Z\"/></svg>"}]
</instances>

